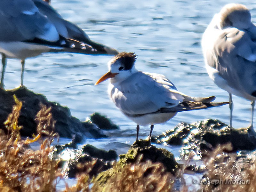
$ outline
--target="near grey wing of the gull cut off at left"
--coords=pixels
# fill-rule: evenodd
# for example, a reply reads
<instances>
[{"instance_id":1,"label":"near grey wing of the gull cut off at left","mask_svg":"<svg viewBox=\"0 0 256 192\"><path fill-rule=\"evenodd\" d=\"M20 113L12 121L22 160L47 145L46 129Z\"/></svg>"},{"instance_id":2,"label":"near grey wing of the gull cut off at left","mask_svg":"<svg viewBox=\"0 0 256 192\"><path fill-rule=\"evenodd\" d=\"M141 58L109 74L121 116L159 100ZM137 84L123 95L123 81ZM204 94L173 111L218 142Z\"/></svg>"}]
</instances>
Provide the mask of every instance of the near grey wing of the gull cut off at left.
<instances>
[{"instance_id":1,"label":"near grey wing of the gull cut off at left","mask_svg":"<svg viewBox=\"0 0 256 192\"><path fill-rule=\"evenodd\" d=\"M35 38L54 42L59 34L31 0L2 0L0 41L29 41Z\"/></svg>"}]
</instances>

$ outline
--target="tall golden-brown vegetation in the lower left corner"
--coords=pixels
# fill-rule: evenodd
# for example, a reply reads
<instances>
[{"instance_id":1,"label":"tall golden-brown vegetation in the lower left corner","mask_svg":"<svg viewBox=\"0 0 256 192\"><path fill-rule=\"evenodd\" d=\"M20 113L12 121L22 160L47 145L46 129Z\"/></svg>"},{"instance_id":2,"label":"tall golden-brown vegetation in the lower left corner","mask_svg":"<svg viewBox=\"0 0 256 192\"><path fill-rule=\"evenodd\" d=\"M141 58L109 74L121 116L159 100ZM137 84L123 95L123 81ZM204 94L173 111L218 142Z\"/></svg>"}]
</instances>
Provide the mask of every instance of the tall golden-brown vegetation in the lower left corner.
<instances>
[{"instance_id":1,"label":"tall golden-brown vegetation in the lower left corner","mask_svg":"<svg viewBox=\"0 0 256 192\"><path fill-rule=\"evenodd\" d=\"M37 135L34 139L22 140L22 127L18 126L22 102L15 96L14 99L16 105L5 122L8 134L0 135L0 191L56 191L56 184L62 175L58 169L58 162L49 158L52 152L50 145L57 136L53 132L51 108L42 106L38 112ZM40 139L42 134L47 138L41 140L41 150L29 149L28 144Z\"/></svg>"}]
</instances>

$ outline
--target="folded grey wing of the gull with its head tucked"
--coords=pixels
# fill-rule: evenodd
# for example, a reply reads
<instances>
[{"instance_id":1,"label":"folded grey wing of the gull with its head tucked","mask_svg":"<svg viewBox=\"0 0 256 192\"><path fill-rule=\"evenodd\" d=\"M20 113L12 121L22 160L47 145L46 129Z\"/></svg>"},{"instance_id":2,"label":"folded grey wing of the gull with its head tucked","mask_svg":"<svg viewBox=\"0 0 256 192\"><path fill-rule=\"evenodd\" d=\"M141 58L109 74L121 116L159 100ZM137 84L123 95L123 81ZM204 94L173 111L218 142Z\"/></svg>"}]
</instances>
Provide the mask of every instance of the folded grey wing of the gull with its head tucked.
<instances>
[{"instance_id":1,"label":"folded grey wing of the gull with its head tucked","mask_svg":"<svg viewBox=\"0 0 256 192\"><path fill-rule=\"evenodd\" d=\"M205 33L208 33L207 30ZM206 49L204 54L207 64L216 69L230 87L251 95L256 90L255 41L248 31L237 28L227 28L213 33L215 35L208 37L204 34L209 41L213 39L212 49L207 50L203 47Z\"/></svg>"}]
</instances>

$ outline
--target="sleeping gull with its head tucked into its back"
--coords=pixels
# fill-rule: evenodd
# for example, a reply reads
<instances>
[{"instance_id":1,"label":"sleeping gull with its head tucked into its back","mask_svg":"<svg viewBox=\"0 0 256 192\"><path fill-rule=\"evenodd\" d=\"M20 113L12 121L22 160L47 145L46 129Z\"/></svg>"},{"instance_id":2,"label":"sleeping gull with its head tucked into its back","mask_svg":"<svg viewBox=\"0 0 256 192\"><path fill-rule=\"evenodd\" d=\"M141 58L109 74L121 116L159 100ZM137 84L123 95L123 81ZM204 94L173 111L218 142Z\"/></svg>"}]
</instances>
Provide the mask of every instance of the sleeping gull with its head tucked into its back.
<instances>
[{"instance_id":1,"label":"sleeping gull with its head tucked into its back","mask_svg":"<svg viewBox=\"0 0 256 192\"><path fill-rule=\"evenodd\" d=\"M202 38L207 72L214 83L229 93L230 127L232 94L256 100L256 27L242 4L227 4L216 14Z\"/></svg>"}]
</instances>

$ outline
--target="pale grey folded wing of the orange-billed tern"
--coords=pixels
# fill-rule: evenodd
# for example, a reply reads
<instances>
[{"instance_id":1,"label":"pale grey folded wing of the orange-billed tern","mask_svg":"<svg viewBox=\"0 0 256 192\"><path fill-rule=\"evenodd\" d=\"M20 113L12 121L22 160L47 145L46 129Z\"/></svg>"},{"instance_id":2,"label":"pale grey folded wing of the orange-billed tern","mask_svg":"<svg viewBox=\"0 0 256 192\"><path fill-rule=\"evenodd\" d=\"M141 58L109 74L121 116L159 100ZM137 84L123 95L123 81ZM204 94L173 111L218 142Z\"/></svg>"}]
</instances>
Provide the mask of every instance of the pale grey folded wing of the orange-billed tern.
<instances>
[{"instance_id":1,"label":"pale grey folded wing of the orange-billed tern","mask_svg":"<svg viewBox=\"0 0 256 192\"><path fill-rule=\"evenodd\" d=\"M134 73L109 91L116 107L130 115L173 107L184 99L166 77L143 72Z\"/></svg>"}]
</instances>

